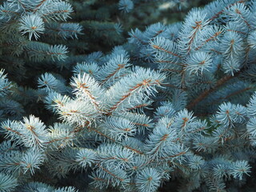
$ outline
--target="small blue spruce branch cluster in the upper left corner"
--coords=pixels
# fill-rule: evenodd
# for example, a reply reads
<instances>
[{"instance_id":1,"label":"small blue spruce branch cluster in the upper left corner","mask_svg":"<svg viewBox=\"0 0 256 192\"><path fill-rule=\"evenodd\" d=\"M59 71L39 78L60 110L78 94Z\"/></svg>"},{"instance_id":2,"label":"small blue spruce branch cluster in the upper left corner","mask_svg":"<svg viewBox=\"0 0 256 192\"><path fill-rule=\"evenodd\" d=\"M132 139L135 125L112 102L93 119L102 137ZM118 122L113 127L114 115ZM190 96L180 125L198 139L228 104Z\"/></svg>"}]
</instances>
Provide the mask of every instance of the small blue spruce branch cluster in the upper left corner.
<instances>
[{"instance_id":1,"label":"small blue spruce branch cluster in the upper left corner","mask_svg":"<svg viewBox=\"0 0 256 192\"><path fill-rule=\"evenodd\" d=\"M81 26L58 23L65 22L73 12L70 3L65 1L6 1L0 6L0 10L1 41L2 46L5 46L1 49L3 54L16 57L26 54L26 57L36 61L47 58L64 60L66 46L50 46L34 40L38 40L44 33L50 33L50 30L58 31L56 35L62 38L76 38L81 34Z\"/></svg>"}]
</instances>

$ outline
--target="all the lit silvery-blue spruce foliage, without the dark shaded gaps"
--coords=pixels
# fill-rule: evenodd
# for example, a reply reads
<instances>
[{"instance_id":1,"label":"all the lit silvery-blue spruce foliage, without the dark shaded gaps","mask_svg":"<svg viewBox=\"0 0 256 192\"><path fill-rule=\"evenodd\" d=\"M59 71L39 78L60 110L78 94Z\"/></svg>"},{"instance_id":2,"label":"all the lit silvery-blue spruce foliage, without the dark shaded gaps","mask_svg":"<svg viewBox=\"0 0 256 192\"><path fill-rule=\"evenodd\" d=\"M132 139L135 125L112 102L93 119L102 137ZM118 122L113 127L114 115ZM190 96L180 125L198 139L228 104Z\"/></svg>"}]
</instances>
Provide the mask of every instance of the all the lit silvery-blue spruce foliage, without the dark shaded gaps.
<instances>
[{"instance_id":1,"label":"all the lit silvery-blue spruce foliage, without the dark shaded gaps","mask_svg":"<svg viewBox=\"0 0 256 192\"><path fill-rule=\"evenodd\" d=\"M129 14L134 2L119 10ZM58 23L72 12L65 1L0 10L1 41L18 45L11 55L65 60L66 46L36 40L54 26L64 39L81 34L78 23ZM24 91L1 70L0 191L251 190L255 21L256 1L217 0L184 22L130 30L122 46L76 62L70 79L43 72ZM24 115L22 91L56 118Z\"/></svg>"}]
</instances>

